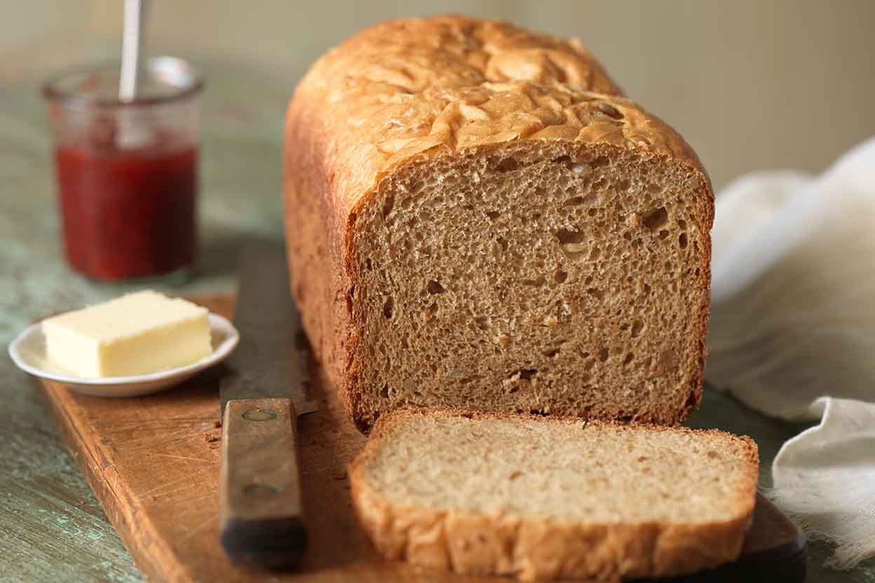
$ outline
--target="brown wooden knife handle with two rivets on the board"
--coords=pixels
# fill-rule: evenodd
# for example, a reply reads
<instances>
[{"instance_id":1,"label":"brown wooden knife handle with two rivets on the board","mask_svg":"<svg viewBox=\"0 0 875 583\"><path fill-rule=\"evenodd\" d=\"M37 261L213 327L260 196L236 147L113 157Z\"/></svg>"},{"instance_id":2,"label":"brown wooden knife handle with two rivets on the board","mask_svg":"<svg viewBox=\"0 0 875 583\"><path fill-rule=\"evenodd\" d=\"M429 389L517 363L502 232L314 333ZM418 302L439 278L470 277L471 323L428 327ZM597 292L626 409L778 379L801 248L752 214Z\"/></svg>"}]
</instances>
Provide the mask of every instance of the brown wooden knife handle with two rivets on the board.
<instances>
[{"instance_id":1,"label":"brown wooden knife handle with two rivets on the board","mask_svg":"<svg viewBox=\"0 0 875 583\"><path fill-rule=\"evenodd\" d=\"M297 565L306 547L291 399L229 400L222 420L221 544L235 565Z\"/></svg>"}]
</instances>

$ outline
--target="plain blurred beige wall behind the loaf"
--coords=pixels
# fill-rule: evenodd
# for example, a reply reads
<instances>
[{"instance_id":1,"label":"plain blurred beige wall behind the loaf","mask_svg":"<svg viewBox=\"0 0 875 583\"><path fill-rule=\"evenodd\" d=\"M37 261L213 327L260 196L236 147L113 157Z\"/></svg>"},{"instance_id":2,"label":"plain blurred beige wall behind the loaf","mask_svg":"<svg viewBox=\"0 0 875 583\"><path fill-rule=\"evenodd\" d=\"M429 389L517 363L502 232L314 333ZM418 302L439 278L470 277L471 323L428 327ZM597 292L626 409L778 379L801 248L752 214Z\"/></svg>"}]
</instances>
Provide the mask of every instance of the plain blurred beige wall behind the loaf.
<instances>
[{"instance_id":1,"label":"plain blurred beige wall behind the loaf","mask_svg":"<svg viewBox=\"0 0 875 583\"><path fill-rule=\"evenodd\" d=\"M0 0L0 91L117 53L121 7ZM280 102L327 47L384 18L442 12L581 38L634 100L687 137L716 186L749 170L822 170L875 135L872 0L154 0L150 42L156 52L209 62L213 83L224 66L269 79L271 94L245 84L239 94L265 101L262 122L276 117L278 134Z\"/></svg>"}]
</instances>

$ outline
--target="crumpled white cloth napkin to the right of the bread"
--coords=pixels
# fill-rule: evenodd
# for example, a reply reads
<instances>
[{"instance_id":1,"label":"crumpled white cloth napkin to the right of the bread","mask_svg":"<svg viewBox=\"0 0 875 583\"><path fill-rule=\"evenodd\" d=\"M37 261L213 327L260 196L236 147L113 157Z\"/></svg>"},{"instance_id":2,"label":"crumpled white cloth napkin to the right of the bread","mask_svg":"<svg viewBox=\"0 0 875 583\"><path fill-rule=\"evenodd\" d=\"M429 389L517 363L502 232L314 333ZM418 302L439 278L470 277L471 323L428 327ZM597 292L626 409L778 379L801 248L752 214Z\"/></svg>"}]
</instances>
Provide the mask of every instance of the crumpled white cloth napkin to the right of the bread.
<instances>
[{"instance_id":1,"label":"crumpled white cloth napkin to the right of the bread","mask_svg":"<svg viewBox=\"0 0 875 583\"><path fill-rule=\"evenodd\" d=\"M718 196L706 378L821 423L775 457L774 498L830 565L875 556L875 138L819 177L758 172Z\"/></svg>"}]
</instances>

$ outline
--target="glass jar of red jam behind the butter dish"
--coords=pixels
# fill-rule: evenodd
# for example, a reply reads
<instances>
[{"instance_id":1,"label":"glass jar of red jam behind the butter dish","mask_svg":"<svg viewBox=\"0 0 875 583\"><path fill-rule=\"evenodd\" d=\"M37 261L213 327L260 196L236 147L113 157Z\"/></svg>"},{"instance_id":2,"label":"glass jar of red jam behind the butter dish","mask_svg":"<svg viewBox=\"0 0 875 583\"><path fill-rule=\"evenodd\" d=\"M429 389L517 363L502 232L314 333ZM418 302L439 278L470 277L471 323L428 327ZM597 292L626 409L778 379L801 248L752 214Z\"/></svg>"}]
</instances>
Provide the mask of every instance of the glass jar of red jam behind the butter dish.
<instances>
[{"instance_id":1,"label":"glass jar of red jam behind the butter dish","mask_svg":"<svg viewBox=\"0 0 875 583\"><path fill-rule=\"evenodd\" d=\"M197 250L200 94L186 61L144 62L137 96L119 67L45 84L66 260L103 281L186 280Z\"/></svg>"}]
</instances>

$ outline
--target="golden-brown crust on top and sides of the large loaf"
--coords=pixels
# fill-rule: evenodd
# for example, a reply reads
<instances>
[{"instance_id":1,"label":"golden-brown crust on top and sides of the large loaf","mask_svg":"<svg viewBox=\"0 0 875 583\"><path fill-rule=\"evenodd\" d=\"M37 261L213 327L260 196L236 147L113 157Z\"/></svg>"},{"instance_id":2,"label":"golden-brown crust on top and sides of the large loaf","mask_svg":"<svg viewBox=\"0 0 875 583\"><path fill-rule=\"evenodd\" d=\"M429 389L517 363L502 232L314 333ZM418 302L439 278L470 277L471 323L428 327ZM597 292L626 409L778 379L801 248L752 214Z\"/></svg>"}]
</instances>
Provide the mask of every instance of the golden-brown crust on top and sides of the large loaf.
<instances>
[{"instance_id":1,"label":"golden-brown crust on top and sides of the large loaf","mask_svg":"<svg viewBox=\"0 0 875 583\"><path fill-rule=\"evenodd\" d=\"M286 123L291 285L315 353L362 430L369 420L356 411L354 347L365 339L353 322L353 236L359 210L373 204L383 178L407 164L509 142L566 142L681 163L701 177L702 196L712 200L690 146L620 94L576 41L468 17L377 24L311 67ZM711 220L712 212L701 218L704 233ZM704 338L706 305L701 322ZM683 420L701 390L700 367L687 405L664 421Z\"/></svg>"}]
</instances>

